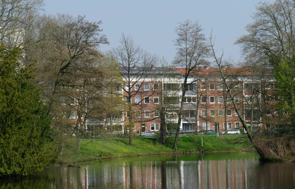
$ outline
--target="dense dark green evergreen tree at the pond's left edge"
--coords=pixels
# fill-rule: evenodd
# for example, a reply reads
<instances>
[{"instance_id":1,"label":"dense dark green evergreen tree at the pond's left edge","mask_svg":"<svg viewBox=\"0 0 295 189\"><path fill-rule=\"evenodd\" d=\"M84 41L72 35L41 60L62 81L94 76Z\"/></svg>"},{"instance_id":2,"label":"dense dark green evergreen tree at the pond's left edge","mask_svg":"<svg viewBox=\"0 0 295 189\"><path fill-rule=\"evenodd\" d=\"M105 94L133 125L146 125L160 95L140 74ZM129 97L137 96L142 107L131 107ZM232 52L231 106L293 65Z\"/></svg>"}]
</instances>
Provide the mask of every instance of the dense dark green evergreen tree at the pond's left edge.
<instances>
[{"instance_id":1,"label":"dense dark green evergreen tree at the pond's left edge","mask_svg":"<svg viewBox=\"0 0 295 189\"><path fill-rule=\"evenodd\" d=\"M42 170L54 156L48 111L22 58L0 45L0 176Z\"/></svg>"}]
</instances>

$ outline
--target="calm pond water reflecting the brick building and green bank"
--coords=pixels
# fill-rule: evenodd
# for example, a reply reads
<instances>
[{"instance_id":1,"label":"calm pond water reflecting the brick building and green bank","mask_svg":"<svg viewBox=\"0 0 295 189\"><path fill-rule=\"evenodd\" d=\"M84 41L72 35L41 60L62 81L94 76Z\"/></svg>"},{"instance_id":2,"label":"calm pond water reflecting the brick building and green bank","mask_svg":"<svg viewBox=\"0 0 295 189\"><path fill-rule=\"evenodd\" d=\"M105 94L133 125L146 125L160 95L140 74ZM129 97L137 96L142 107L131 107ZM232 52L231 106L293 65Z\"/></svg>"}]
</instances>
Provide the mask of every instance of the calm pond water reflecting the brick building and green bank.
<instances>
[{"instance_id":1,"label":"calm pond water reflecting the brick building and green bank","mask_svg":"<svg viewBox=\"0 0 295 189\"><path fill-rule=\"evenodd\" d=\"M141 156L51 166L0 189L295 189L295 163L253 153Z\"/></svg>"}]
</instances>

